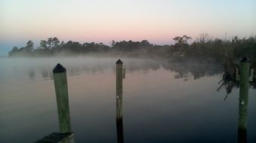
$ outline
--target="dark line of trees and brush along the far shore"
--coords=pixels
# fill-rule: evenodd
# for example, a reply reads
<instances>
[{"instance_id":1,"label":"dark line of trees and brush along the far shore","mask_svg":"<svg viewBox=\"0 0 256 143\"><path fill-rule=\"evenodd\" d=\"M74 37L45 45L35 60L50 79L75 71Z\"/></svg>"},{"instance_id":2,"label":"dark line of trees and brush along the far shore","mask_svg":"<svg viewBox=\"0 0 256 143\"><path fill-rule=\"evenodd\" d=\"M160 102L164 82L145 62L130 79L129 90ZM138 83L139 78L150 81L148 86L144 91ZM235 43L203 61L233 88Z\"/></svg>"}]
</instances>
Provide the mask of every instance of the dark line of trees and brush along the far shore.
<instances>
[{"instance_id":1,"label":"dark line of trees and brush along the far shore","mask_svg":"<svg viewBox=\"0 0 256 143\"><path fill-rule=\"evenodd\" d=\"M76 41L59 41L58 38L48 38L40 41L35 47L33 41L27 41L25 47L13 47L9 56L73 56L84 54L104 53L105 56L133 56L153 57L173 60L219 61L223 59L237 59L248 56L256 61L256 36L239 38L235 36L229 40L214 38L202 33L189 42L188 35L173 38L175 44L158 45L143 41L112 41L111 45L103 43L83 43Z\"/></svg>"}]
</instances>

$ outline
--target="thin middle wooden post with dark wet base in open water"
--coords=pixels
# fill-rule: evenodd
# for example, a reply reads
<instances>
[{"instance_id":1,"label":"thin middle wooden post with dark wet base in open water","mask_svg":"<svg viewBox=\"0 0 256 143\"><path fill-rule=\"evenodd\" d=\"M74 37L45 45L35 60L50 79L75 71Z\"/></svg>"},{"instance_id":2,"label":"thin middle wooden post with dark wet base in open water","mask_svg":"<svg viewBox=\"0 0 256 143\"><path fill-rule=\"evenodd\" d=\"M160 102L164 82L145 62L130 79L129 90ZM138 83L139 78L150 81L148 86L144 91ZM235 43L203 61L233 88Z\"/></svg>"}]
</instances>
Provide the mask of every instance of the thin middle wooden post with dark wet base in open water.
<instances>
[{"instance_id":1,"label":"thin middle wooden post with dark wet base in open water","mask_svg":"<svg viewBox=\"0 0 256 143\"><path fill-rule=\"evenodd\" d=\"M123 62L116 62L117 142L123 142Z\"/></svg>"}]
</instances>

